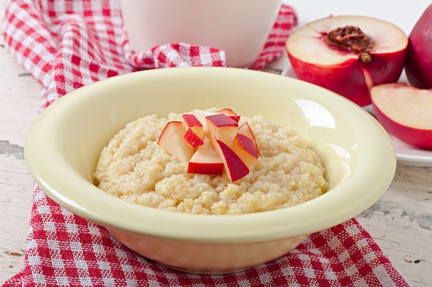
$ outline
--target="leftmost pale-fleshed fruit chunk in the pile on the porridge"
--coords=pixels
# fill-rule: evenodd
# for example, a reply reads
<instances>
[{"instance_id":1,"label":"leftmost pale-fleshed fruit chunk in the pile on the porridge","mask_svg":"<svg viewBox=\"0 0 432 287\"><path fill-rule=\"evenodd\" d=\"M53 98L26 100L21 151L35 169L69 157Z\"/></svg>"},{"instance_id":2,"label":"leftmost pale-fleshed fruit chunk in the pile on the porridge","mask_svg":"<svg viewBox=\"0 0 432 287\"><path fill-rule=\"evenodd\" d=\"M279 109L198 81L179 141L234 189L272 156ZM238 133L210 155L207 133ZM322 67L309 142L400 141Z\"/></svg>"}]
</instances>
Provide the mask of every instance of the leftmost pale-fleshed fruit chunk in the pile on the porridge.
<instances>
[{"instance_id":1,"label":"leftmost pale-fleshed fruit chunk in the pile on the porridge","mask_svg":"<svg viewBox=\"0 0 432 287\"><path fill-rule=\"evenodd\" d=\"M162 130L157 144L166 150L170 155L174 155L182 162L188 162L195 150L183 139L186 129L181 121L169 121Z\"/></svg>"}]
</instances>

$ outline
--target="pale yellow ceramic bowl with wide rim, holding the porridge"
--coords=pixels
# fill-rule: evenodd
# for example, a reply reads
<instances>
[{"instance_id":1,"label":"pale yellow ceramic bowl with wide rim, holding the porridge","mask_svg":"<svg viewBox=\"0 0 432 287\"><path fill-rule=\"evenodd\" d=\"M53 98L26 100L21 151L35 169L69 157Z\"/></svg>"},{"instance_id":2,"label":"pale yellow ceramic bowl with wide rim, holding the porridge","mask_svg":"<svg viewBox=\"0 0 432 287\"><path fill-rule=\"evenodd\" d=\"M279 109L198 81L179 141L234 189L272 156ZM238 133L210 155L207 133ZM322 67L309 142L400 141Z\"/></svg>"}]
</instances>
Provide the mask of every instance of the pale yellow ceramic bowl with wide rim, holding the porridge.
<instances>
[{"instance_id":1,"label":"pale yellow ceramic bowl with wide rim, holding the porridge","mask_svg":"<svg viewBox=\"0 0 432 287\"><path fill-rule=\"evenodd\" d=\"M324 162L330 190L280 210L190 215L131 204L93 185L99 152L126 123L213 106L295 128ZM215 67L134 72L79 88L41 113L24 151L36 183L61 206L159 264L210 274L270 261L355 217L386 191L396 166L382 126L343 97L271 73Z\"/></svg>"}]
</instances>

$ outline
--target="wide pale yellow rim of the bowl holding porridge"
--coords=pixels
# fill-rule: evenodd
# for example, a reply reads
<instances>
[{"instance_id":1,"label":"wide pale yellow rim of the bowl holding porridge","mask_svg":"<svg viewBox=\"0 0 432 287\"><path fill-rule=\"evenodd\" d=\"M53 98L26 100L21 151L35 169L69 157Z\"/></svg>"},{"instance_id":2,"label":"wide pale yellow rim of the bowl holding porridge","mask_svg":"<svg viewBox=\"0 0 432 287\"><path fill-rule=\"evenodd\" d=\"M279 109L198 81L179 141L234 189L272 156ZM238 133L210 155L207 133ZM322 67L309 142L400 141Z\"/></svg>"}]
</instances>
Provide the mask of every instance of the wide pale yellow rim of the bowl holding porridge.
<instances>
[{"instance_id":1,"label":"wide pale yellow rim of the bowl holding porridge","mask_svg":"<svg viewBox=\"0 0 432 287\"><path fill-rule=\"evenodd\" d=\"M332 101L337 101L348 112L353 112L357 117L360 117L362 123L355 123L355 125L360 128L361 124L364 130L371 130L371 138L376 138L380 145L374 146L375 141L362 141L362 148L367 151L367 154L364 150L361 152L367 157L360 157L358 166L351 171L353 175L346 179L343 185L333 188L331 192L326 192L316 199L289 208L244 215L190 215L148 208L118 199L102 192L90 182L75 177L70 177L69 181L64 181L62 188L70 189L68 184L72 183L74 190L88 190L86 199L81 197L82 194L74 195L73 192L68 192L68 196L65 196L57 186L48 182L47 179L50 178L50 175L68 171L68 167L59 155L55 155L57 162L43 161L45 158L52 157L53 151L56 152L55 146L52 146L52 138L55 136L50 135L49 130L52 125L57 124L55 119L61 117L63 110L68 109L68 106L76 106L81 101L85 101L84 97L79 96L84 89L86 92L96 92L102 85L107 88L111 85L121 85L124 79L139 81L141 77L147 75L175 77L179 72L182 74L189 73L192 77L199 77L199 75L205 75L204 77L208 75L210 77L258 75L263 79L285 81L286 83L283 84L287 86L300 85L302 88L324 93L326 97L330 97ZM395 152L388 133L368 112L351 101L329 90L297 79L268 72L221 67L144 70L97 81L70 92L43 110L32 124L26 137L24 155L28 170L41 190L57 204L76 215L101 226L134 234L202 244L244 244L274 241L308 235L331 228L359 215L380 199L390 186L396 168ZM376 161L377 158L381 160ZM372 178L365 181L363 177L365 174L372 175ZM358 186L362 186L362 188L358 188ZM352 200L353 197L357 199L355 202ZM92 202L100 202L101 204L92 204ZM322 204L323 202L325 204ZM117 212L112 211L114 207ZM311 213L317 217L311 217ZM143 221L131 221L130 218L142 218ZM157 218L157 220L147 220L144 224L144 219L152 218ZM286 228L287 224L290 226L289 228ZM176 226L182 226L182 228L176 228Z\"/></svg>"}]
</instances>

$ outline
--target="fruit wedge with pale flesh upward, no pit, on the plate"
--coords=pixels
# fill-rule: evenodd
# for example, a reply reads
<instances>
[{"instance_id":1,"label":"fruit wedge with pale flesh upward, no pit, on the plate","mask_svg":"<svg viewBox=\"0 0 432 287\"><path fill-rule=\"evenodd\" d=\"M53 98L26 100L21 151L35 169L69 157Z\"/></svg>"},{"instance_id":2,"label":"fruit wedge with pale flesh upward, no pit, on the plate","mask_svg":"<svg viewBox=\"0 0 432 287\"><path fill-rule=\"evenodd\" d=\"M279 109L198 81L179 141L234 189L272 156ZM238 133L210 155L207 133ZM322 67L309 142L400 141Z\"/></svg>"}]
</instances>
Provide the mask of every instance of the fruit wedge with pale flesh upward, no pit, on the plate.
<instances>
[{"instance_id":1,"label":"fruit wedge with pale flesh upward, no pit, on the plate","mask_svg":"<svg viewBox=\"0 0 432 287\"><path fill-rule=\"evenodd\" d=\"M419 148L432 149L432 89L388 83L371 89L377 120L392 135Z\"/></svg>"}]
</instances>

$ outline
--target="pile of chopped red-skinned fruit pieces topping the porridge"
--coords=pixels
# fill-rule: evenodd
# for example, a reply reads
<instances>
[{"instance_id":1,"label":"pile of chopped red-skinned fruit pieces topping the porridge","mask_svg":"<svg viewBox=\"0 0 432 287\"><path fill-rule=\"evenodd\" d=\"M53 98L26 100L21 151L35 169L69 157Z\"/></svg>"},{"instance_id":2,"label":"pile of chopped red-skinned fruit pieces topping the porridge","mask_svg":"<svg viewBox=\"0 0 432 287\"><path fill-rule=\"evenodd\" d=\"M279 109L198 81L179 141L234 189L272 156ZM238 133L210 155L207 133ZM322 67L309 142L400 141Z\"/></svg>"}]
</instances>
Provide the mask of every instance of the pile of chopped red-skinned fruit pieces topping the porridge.
<instances>
[{"instance_id":1,"label":"pile of chopped red-skinned fruit pieces topping the porridge","mask_svg":"<svg viewBox=\"0 0 432 287\"><path fill-rule=\"evenodd\" d=\"M179 161L188 163L188 172L222 175L237 181L249 173L258 159L255 136L245 121L229 108L210 112L193 110L181 121L169 121L157 144Z\"/></svg>"}]
</instances>

